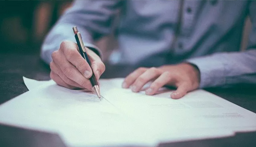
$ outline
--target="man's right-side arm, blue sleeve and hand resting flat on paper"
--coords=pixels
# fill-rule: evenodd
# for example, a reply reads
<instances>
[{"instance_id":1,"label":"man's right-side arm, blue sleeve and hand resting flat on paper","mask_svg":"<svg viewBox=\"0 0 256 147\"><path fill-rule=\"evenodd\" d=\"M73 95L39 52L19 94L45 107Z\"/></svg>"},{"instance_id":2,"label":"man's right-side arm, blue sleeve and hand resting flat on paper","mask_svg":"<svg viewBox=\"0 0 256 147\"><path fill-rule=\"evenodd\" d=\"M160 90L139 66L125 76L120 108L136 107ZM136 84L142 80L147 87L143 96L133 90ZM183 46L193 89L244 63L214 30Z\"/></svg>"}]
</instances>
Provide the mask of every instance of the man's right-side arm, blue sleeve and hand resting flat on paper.
<instances>
[{"instance_id":1,"label":"man's right-side arm, blue sleeve and hand resting flat on paper","mask_svg":"<svg viewBox=\"0 0 256 147\"><path fill-rule=\"evenodd\" d=\"M154 80L145 91L154 95L164 85L177 87L170 97L181 98L197 88L223 86L235 83L256 83L256 2L251 1L249 15L252 30L247 51L224 52L188 59L187 63L165 65L159 68L139 68L128 75L123 88L138 92Z\"/></svg>"}]
</instances>

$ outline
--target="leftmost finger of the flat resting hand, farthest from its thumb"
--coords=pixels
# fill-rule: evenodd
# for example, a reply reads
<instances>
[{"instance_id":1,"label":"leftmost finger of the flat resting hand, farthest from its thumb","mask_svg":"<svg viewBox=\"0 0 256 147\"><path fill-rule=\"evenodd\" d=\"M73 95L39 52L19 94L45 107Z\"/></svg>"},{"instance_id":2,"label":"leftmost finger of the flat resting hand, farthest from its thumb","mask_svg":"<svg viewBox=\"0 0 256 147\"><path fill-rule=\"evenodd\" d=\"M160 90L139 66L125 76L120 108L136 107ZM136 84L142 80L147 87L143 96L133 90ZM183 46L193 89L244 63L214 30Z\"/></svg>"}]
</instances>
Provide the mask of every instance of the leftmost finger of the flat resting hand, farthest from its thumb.
<instances>
[{"instance_id":1,"label":"leftmost finger of the flat resting hand, farthest from its thumb","mask_svg":"<svg viewBox=\"0 0 256 147\"><path fill-rule=\"evenodd\" d=\"M137 70L133 71L132 73L130 73L123 81L122 87L123 88L129 88L130 85L133 84L133 82L145 71L147 70L147 68L145 67L140 67Z\"/></svg>"}]
</instances>

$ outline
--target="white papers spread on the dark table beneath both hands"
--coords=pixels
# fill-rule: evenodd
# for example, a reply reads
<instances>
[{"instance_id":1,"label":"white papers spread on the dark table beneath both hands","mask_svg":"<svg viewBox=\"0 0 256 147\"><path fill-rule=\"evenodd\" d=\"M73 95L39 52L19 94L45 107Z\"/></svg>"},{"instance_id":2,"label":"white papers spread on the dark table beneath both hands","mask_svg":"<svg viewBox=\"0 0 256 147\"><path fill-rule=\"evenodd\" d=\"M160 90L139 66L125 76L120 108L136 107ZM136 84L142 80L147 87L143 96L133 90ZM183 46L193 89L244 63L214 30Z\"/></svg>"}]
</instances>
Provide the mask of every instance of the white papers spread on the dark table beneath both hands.
<instances>
[{"instance_id":1,"label":"white papers spread on the dark table beneath both hands","mask_svg":"<svg viewBox=\"0 0 256 147\"><path fill-rule=\"evenodd\" d=\"M30 90L0 105L0 123L58 133L67 146L156 146L255 131L256 114L204 90L174 100L162 89L148 96L101 79L92 92L24 78Z\"/></svg>"}]
</instances>

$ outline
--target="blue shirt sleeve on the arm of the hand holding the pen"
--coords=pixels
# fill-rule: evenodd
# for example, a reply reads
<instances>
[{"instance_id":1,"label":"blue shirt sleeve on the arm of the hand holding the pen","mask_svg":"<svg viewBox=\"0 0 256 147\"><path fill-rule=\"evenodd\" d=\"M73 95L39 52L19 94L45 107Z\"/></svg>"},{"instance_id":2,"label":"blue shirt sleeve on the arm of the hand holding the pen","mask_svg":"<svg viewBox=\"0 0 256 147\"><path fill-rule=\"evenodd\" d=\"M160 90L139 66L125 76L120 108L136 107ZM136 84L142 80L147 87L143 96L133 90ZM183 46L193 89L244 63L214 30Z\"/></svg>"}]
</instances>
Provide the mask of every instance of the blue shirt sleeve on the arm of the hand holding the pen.
<instances>
[{"instance_id":1,"label":"blue shirt sleeve on the arm of the hand holding the pen","mask_svg":"<svg viewBox=\"0 0 256 147\"><path fill-rule=\"evenodd\" d=\"M77 26L84 45L102 58L101 51L94 45L94 41L111 33L119 7L120 1L74 1L72 7L46 36L41 47L41 58L49 64L52 61L52 52L59 49L62 41L76 43L73 26Z\"/></svg>"}]
</instances>

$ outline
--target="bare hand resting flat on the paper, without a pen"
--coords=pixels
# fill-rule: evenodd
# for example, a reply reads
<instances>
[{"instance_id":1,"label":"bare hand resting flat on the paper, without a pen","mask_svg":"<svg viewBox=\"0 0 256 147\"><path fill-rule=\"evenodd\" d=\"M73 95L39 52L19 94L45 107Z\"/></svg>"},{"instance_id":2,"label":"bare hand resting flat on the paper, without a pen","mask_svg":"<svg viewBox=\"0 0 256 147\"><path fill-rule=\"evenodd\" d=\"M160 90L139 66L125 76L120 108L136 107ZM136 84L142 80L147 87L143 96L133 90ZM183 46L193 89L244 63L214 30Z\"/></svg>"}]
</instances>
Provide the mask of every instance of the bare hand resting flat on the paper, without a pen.
<instances>
[{"instance_id":1,"label":"bare hand resting flat on the paper, without a pen","mask_svg":"<svg viewBox=\"0 0 256 147\"><path fill-rule=\"evenodd\" d=\"M178 99L198 88L200 72L197 67L189 63L165 65L158 68L140 67L125 78L122 87L130 87L133 92L138 92L149 81L153 82L145 91L147 95L154 95L159 88L169 85L177 87L170 97Z\"/></svg>"}]
</instances>

